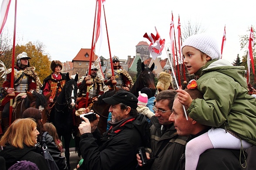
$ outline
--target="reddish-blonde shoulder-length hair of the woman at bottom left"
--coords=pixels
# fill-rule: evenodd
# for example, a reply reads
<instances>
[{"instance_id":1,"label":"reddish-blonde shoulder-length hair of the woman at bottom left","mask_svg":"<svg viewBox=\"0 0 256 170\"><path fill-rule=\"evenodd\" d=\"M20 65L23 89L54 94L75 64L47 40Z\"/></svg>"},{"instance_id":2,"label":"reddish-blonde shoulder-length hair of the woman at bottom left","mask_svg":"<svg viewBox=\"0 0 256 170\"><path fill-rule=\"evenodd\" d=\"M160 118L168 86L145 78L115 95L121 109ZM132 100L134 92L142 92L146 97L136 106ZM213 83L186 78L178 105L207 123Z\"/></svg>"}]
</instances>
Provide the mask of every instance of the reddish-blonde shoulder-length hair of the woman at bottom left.
<instances>
[{"instance_id":1,"label":"reddish-blonde shoulder-length hair of the woman at bottom left","mask_svg":"<svg viewBox=\"0 0 256 170\"><path fill-rule=\"evenodd\" d=\"M31 135L35 127L37 124L32 118L16 119L3 134L0 146L4 147L6 144L10 144L13 147L23 149L25 144L28 147L34 147L35 143Z\"/></svg>"}]
</instances>

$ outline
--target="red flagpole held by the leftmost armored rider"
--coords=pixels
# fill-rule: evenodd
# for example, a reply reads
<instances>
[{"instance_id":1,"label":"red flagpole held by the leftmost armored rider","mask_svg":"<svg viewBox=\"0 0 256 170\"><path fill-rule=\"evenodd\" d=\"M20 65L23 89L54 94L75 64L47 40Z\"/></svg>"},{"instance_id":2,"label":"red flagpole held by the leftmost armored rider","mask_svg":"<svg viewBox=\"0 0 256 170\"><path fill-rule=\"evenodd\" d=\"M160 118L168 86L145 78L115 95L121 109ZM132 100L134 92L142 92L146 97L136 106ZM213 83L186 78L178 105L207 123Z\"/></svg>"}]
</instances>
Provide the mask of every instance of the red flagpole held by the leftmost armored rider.
<instances>
[{"instance_id":1,"label":"red flagpole held by the leftmost armored rider","mask_svg":"<svg viewBox=\"0 0 256 170\"><path fill-rule=\"evenodd\" d=\"M16 37L16 16L17 16L17 0L15 0L15 12L14 12L14 29L13 29L13 58L12 58L12 72L10 80L10 88L14 88L14 60L15 60L15 37ZM9 96L15 96L15 93L9 93ZM13 98L10 99L9 108L9 125L12 123L12 113L13 113Z\"/></svg>"}]
</instances>

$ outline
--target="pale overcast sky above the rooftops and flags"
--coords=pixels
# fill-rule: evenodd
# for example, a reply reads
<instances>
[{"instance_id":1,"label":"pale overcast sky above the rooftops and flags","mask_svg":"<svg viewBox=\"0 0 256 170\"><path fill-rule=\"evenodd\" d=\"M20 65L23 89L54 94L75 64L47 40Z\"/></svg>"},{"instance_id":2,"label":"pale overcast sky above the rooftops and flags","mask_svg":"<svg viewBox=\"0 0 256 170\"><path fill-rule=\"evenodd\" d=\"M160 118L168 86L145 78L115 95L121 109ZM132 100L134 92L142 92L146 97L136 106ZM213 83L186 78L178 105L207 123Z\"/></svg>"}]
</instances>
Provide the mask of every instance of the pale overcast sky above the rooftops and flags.
<instances>
[{"instance_id":1,"label":"pale overcast sky above the rooftops and flags","mask_svg":"<svg viewBox=\"0 0 256 170\"><path fill-rule=\"evenodd\" d=\"M72 61L81 48L91 49L95 0L17 0L16 42L40 41L51 59ZM13 35L14 4L12 0L5 29ZM178 16L182 23L201 23L205 33L216 37L221 46L226 25L226 46L222 58L233 62L240 51L239 36L249 34L256 26L255 0L106 0L104 8L108 26L111 56L127 59L135 56L135 46L145 33L155 34L155 26L166 44L174 16L175 33ZM104 20L103 20L103 23ZM255 28L256 29L256 28ZM96 54L110 58L106 29ZM168 45L168 44L167 44ZM162 52L162 59L166 52Z\"/></svg>"}]
</instances>

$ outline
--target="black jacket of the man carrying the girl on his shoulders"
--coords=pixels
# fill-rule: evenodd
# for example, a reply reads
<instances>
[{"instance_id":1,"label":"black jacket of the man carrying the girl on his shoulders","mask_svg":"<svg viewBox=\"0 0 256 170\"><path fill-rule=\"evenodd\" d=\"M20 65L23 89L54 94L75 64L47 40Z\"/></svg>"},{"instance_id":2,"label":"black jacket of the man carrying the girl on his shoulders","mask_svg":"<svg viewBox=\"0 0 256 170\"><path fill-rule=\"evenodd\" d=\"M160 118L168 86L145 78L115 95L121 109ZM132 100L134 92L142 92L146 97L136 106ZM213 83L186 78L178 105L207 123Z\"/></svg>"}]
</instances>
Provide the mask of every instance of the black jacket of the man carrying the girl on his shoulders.
<instances>
[{"instance_id":1,"label":"black jacket of the man carrying the girl on his shoulders","mask_svg":"<svg viewBox=\"0 0 256 170\"><path fill-rule=\"evenodd\" d=\"M205 129L199 132L199 134L193 135L191 139L204 134L207 131L208 129ZM240 165L239 157L240 150L208 149L200 155L196 170L243 170ZM241 163L244 162L245 159L242 153ZM180 163L181 170L185 170L185 154L182 155Z\"/></svg>"}]
</instances>

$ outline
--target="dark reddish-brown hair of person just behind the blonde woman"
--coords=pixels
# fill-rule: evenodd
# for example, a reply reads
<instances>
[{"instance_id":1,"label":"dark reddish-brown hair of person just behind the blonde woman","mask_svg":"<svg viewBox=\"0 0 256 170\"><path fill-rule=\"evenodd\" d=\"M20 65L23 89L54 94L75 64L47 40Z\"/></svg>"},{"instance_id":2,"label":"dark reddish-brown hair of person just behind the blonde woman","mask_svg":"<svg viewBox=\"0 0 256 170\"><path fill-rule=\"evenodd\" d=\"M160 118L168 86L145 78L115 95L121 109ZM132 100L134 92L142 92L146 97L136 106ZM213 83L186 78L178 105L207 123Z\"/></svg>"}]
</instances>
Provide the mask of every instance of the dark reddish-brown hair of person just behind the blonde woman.
<instances>
[{"instance_id":1,"label":"dark reddish-brown hair of person just behind the blonde woman","mask_svg":"<svg viewBox=\"0 0 256 170\"><path fill-rule=\"evenodd\" d=\"M37 108L27 108L23 114L22 118L33 118L35 122L37 123L37 131L39 131L39 138L43 135L43 133L46 131L44 129L44 124L42 123L42 116L41 111Z\"/></svg>"}]
</instances>

